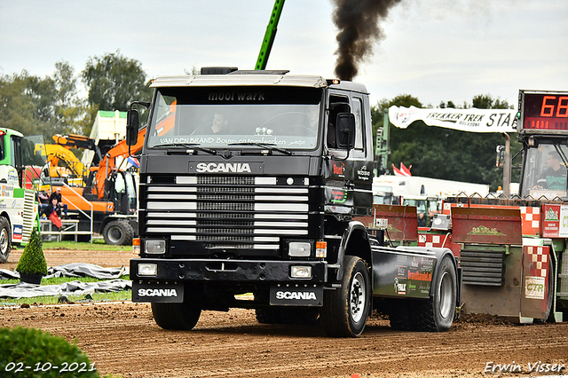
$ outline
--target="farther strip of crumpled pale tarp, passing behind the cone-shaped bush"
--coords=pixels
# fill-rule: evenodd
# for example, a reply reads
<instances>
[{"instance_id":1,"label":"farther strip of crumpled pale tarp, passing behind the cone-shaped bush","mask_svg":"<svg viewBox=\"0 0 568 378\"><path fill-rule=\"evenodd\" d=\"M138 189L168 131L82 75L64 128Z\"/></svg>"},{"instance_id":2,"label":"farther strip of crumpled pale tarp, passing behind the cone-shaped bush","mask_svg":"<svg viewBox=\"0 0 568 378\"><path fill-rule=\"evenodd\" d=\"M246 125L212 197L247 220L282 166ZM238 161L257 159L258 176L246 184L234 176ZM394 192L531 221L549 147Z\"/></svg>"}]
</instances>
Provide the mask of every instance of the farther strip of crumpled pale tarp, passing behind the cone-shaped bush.
<instances>
[{"instance_id":1,"label":"farther strip of crumpled pale tarp, passing behind the cone-shaped bush","mask_svg":"<svg viewBox=\"0 0 568 378\"><path fill-rule=\"evenodd\" d=\"M130 269L122 266L121 268L103 268L95 264L73 263L53 266L47 269L47 276L44 279L59 277L93 277L99 280L119 279L129 274ZM0 280L18 280L20 273L0 269Z\"/></svg>"}]
</instances>

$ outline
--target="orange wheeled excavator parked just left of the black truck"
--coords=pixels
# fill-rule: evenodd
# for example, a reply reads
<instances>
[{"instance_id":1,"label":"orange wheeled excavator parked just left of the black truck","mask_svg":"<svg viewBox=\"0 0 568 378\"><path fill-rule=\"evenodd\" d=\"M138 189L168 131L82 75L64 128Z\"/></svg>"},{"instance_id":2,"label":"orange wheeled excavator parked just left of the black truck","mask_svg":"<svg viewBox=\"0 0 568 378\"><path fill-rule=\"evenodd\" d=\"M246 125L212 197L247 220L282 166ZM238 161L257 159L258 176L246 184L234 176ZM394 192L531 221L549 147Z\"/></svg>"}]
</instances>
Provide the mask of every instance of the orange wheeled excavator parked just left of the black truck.
<instances>
[{"instance_id":1,"label":"orange wheeled excavator parked just left of the black truck","mask_svg":"<svg viewBox=\"0 0 568 378\"><path fill-rule=\"evenodd\" d=\"M130 154L141 150L145 134L146 128L138 131L140 142L130 146ZM61 146L96 152L82 186L65 185L51 177L53 190L61 186L62 201L67 204L69 212L75 214L70 217L78 218L79 231L98 232L106 244L130 244L138 234L138 172L137 161L130 158L126 142L122 140L101 152L91 138L69 135L53 139Z\"/></svg>"}]
</instances>

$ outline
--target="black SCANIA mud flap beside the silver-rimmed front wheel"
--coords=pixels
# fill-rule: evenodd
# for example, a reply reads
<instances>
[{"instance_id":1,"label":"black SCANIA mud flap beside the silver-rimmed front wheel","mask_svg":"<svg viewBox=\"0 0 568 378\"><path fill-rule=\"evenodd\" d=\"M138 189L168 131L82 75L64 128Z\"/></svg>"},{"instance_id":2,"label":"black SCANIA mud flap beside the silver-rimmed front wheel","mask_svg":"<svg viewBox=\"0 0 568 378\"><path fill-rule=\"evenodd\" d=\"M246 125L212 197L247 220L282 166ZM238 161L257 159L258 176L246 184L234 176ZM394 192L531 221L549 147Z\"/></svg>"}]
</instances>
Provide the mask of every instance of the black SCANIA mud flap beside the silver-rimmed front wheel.
<instances>
[{"instance_id":1,"label":"black SCANIA mud flap beside the silver-rimmed front wheel","mask_svg":"<svg viewBox=\"0 0 568 378\"><path fill-rule=\"evenodd\" d=\"M308 284L271 285L270 304L279 306L322 306L323 286Z\"/></svg>"}]
</instances>

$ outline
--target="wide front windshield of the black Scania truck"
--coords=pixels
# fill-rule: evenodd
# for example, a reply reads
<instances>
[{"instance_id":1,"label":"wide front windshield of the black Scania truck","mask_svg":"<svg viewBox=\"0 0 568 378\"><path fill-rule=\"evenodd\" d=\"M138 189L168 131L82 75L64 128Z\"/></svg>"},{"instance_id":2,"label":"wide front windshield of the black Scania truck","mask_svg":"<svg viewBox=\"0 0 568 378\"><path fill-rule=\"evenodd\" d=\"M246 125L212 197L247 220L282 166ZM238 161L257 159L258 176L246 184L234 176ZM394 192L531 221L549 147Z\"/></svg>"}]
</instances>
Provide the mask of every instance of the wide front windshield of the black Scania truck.
<instances>
[{"instance_id":1,"label":"wide front windshield of the black Scania truck","mask_svg":"<svg viewBox=\"0 0 568 378\"><path fill-rule=\"evenodd\" d=\"M266 144L314 149L321 98L320 89L304 87L159 89L147 143L149 147Z\"/></svg>"}]
</instances>

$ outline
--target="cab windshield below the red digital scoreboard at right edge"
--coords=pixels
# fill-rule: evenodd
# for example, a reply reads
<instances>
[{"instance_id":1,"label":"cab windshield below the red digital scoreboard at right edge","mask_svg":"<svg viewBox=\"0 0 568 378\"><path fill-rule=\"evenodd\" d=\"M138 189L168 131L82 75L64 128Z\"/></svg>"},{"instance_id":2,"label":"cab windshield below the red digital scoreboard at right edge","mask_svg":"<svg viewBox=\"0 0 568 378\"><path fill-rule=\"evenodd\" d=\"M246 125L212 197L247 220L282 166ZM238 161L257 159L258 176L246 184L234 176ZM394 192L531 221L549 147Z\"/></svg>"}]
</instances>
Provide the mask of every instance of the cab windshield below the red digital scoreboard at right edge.
<instances>
[{"instance_id":1,"label":"cab windshield below the red digital scoreboard at right edge","mask_svg":"<svg viewBox=\"0 0 568 378\"><path fill-rule=\"evenodd\" d=\"M566 196L566 171L568 147L565 144L540 144L529 148L525 157L525 169L521 195L534 199L546 197L552 200Z\"/></svg>"}]
</instances>

